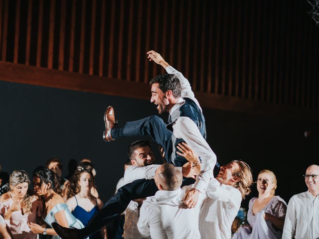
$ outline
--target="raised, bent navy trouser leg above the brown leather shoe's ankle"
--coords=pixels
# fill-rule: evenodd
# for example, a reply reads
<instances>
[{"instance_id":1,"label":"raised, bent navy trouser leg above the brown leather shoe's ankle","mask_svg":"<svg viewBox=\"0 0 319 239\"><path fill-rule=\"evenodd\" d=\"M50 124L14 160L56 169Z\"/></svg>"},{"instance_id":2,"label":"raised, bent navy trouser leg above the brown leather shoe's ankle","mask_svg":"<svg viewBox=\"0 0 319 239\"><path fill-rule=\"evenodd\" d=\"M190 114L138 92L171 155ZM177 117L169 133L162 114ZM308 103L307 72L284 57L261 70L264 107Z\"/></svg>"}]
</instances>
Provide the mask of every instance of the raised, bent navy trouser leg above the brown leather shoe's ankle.
<instances>
[{"instance_id":1,"label":"raised, bent navy trouser leg above the brown leather shoe's ankle","mask_svg":"<svg viewBox=\"0 0 319 239\"><path fill-rule=\"evenodd\" d=\"M117 134L112 137L117 138ZM149 135L154 142L160 144L165 151L165 159L170 162L170 155L172 152L172 132L166 128L166 124L158 116L150 116L144 119L127 122L123 128L123 136L140 136Z\"/></svg>"}]
</instances>

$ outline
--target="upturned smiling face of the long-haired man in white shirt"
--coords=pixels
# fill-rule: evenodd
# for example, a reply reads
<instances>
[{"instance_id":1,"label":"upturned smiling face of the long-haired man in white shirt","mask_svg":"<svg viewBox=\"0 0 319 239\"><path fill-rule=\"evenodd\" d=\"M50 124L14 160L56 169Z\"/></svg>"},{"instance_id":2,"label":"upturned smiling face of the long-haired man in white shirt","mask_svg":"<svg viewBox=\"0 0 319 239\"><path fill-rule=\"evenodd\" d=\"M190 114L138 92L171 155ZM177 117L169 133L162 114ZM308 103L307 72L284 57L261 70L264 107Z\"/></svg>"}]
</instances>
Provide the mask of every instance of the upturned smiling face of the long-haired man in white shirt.
<instances>
[{"instance_id":1,"label":"upturned smiling face of the long-haired man in white shirt","mask_svg":"<svg viewBox=\"0 0 319 239\"><path fill-rule=\"evenodd\" d=\"M220 167L216 180L221 184L234 185L238 181L236 173L240 170L238 163L231 162Z\"/></svg>"}]
</instances>

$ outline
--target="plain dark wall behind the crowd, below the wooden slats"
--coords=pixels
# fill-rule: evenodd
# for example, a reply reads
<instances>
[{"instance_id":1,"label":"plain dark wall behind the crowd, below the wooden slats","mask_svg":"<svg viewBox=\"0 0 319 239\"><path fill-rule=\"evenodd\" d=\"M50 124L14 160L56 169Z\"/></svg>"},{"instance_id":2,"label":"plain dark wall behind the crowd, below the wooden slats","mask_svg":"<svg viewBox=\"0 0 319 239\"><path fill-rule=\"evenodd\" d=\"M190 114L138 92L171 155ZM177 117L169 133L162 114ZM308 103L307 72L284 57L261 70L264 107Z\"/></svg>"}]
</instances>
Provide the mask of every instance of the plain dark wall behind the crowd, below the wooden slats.
<instances>
[{"instance_id":1,"label":"plain dark wall behind the crowd, below the wooden slats","mask_svg":"<svg viewBox=\"0 0 319 239\"><path fill-rule=\"evenodd\" d=\"M4 171L25 169L31 175L51 156L59 157L64 175L70 158L90 158L96 184L105 201L123 175L127 146L138 138L102 139L107 106L115 108L119 125L157 113L148 101L75 92L0 81L0 164ZM246 161L254 179L262 169L278 177L277 194L285 200L306 191L302 175L318 164L318 125L283 117L256 116L204 109L207 141L220 164ZM166 119L167 116L163 116ZM309 137L305 130L311 130ZM155 151L157 151L154 144ZM157 155L158 152L156 152ZM159 158L159 157L158 157ZM253 196L256 196L253 186ZM250 199L250 197L248 197ZM243 205L247 206L248 200Z\"/></svg>"}]
</instances>

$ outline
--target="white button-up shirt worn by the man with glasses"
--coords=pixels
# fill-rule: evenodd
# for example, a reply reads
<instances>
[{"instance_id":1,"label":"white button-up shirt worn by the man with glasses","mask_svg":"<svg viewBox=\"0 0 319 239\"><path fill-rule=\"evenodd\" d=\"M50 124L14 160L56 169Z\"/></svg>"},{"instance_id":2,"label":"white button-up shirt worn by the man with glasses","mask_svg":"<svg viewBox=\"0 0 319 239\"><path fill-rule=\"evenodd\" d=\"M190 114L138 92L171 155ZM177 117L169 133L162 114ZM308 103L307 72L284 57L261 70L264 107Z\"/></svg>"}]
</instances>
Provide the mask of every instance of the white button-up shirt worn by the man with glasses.
<instances>
[{"instance_id":1,"label":"white button-up shirt worn by the man with glasses","mask_svg":"<svg viewBox=\"0 0 319 239\"><path fill-rule=\"evenodd\" d=\"M319 238L319 195L309 191L294 195L287 207L283 239Z\"/></svg>"}]
</instances>

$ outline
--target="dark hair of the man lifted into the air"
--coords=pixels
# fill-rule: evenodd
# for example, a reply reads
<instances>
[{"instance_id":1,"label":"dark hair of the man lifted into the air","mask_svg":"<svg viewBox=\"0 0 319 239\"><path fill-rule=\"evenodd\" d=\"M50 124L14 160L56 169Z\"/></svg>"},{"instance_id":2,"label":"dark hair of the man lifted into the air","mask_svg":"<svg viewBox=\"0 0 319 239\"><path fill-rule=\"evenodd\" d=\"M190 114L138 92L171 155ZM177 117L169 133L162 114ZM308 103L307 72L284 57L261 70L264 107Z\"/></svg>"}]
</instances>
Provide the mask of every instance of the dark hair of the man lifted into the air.
<instances>
[{"instance_id":1,"label":"dark hair of the man lifted into the air","mask_svg":"<svg viewBox=\"0 0 319 239\"><path fill-rule=\"evenodd\" d=\"M153 85L155 83L159 83L160 90L163 93L171 90L175 98L181 97L180 81L174 74L160 74L150 81L150 85Z\"/></svg>"}]
</instances>

